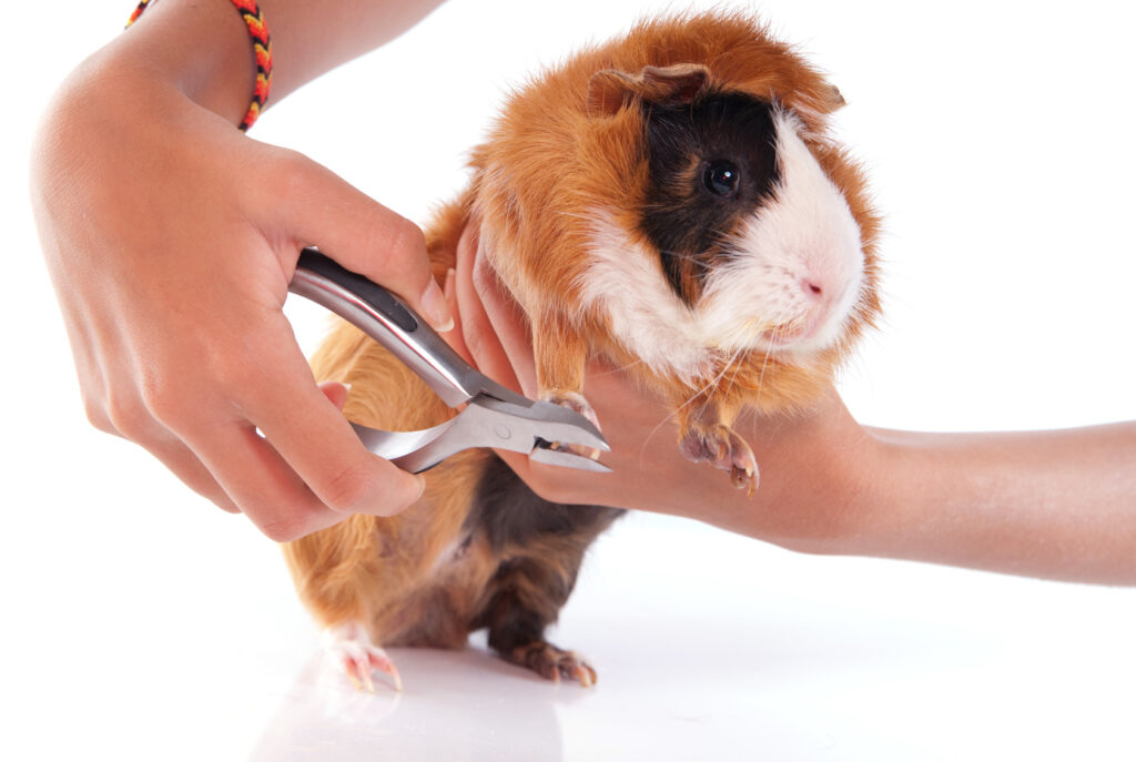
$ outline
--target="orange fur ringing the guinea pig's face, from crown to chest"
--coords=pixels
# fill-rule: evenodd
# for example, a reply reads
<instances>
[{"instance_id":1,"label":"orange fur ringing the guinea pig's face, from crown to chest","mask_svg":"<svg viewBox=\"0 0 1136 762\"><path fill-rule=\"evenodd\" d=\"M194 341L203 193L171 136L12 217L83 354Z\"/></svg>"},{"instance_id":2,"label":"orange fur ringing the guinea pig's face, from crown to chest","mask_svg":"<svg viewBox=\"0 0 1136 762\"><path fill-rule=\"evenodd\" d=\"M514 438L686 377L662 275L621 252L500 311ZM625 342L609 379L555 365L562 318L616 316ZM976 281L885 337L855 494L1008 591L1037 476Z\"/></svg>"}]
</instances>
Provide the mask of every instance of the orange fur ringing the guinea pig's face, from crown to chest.
<instances>
[{"instance_id":1,"label":"orange fur ringing the guinea pig's face, from crown to chest","mask_svg":"<svg viewBox=\"0 0 1136 762\"><path fill-rule=\"evenodd\" d=\"M560 379L580 377L588 349L612 355L621 367L642 369L636 358L611 341L610 327L600 316L578 309L592 223L586 211L600 204L615 209L619 227L635 232L646 184L640 115L623 109L608 118L590 117L588 87L598 72L638 73L645 66L688 64L704 66L715 83L732 91L776 99L801 119L808 146L847 196L860 224L867 291L872 296L847 340L811 367L790 366L760 353L729 367L724 358L704 377L651 375L643 382L669 390L673 400L686 401L693 391L725 377L734 380L719 392L722 409L741 404L735 397L766 410L799 408L817 397L844 351L878 310L874 238L879 223L859 169L827 139L826 116L843 104L840 93L788 45L769 39L746 14L644 22L625 39L570 59L515 95L488 142L474 154L473 211L483 232L490 233L482 253L533 321L538 380L549 382L541 383L542 391L580 391ZM566 338L573 335L585 336L588 346ZM542 343L554 351L541 351ZM755 394L758 378L761 396Z\"/></svg>"}]
</instances>

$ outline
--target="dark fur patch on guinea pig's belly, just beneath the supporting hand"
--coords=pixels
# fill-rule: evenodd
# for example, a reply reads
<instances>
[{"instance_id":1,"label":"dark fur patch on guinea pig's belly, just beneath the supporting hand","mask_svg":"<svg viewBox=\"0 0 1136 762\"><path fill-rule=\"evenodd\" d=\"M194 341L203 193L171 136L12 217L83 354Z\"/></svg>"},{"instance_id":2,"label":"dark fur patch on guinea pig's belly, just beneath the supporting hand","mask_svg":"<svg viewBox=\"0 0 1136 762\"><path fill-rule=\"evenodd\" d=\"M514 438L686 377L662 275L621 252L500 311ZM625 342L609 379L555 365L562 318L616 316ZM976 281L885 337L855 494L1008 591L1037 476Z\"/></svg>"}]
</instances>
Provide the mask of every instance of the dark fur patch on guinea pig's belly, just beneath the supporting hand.
<instances>
[{"instance_id":1,"label":"dark fur patch on guinea pig's belly, just beneath the supporting hand","mask_svg":"<svg viewBox=\"0 0 1136 762\"><path fill-rule=\"evenodd\" d=\"M549 502L494 455L478 484L463 529L484 533L495 553L524 547L542 535L579 537L583 551L623 513L618 508Z\"/></svg>"}]
</instances>

